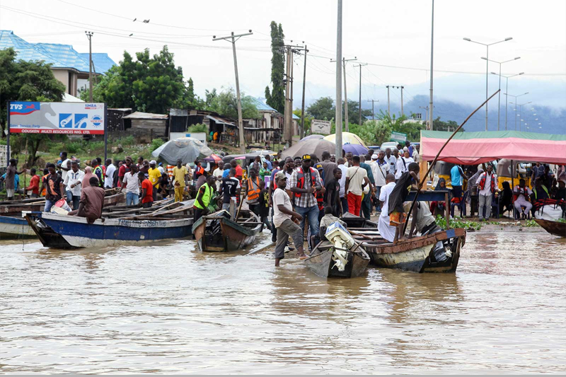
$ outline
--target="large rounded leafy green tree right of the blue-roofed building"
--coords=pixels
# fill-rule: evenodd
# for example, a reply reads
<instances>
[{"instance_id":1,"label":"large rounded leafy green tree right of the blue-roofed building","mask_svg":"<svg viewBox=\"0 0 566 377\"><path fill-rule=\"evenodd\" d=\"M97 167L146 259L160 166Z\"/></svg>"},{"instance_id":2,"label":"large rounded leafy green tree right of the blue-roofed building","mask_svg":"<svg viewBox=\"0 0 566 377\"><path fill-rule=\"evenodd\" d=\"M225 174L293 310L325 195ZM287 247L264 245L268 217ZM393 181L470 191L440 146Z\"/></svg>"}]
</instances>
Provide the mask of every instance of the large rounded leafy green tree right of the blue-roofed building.
<instances>
[{"instance_id":1,"label":"large rounded leafy green tree right of the blue-roofed building","mask_svg":"<svg viewBox=\"0 0 566 377\"><path fill-rule=\"evenodd\" d=\"M120 64L112 67L93 88L93 100L108 103L111 108L166 113L175 104L192 103L191 81L183 81L183 70L175 66L167 46L153 57L149 49L137 52L135 62L124 52ZM84 100L87 95L81 94Z\"/></svg>"}]
</instances>

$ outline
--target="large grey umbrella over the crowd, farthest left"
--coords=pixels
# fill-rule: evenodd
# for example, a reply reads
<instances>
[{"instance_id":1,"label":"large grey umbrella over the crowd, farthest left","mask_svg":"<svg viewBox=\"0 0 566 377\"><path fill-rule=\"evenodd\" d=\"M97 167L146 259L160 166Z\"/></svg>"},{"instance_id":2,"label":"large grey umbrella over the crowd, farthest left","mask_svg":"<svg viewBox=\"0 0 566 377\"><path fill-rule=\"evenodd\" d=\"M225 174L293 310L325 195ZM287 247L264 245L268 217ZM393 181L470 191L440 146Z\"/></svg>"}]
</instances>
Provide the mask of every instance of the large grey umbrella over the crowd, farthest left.
<instances>
[{"instance_id":1,"label":"large grey umbrella over the crowd, farthest left","mask_svg":"<svg viewBox=\"0 0 566 377\"><path fill-rule=\"evenodd\" d=\"M176 165L180 159L183 164L195 161L197 158L210 156L212 150L202 144L202 141L194 137L180 137L179 139L167 141L151 153L151 156L159 158L170 165Z\"/></svg>"}]
</instances>

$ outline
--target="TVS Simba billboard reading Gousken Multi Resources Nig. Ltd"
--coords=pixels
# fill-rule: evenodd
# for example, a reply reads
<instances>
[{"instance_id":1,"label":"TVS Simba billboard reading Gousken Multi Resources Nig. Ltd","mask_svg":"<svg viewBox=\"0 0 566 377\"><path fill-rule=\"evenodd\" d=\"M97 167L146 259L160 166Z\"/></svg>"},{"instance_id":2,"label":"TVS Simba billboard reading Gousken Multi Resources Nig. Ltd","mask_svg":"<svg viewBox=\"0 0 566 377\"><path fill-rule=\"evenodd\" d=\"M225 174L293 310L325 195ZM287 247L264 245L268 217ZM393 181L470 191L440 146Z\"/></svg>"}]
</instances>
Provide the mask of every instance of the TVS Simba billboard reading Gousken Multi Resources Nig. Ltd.
<instances>
[{"instance_id":1,"label":"TVS Simba billboard reading Gousken Multi Resources Nig. Ltd","mask_svg":"<svg viewBox=\"0 0 566 377\"><path fill-rule=\"evenodd\" d=\"M10 103L12 134L104 134L104 103Z\"/></svg>"}]
</instances>

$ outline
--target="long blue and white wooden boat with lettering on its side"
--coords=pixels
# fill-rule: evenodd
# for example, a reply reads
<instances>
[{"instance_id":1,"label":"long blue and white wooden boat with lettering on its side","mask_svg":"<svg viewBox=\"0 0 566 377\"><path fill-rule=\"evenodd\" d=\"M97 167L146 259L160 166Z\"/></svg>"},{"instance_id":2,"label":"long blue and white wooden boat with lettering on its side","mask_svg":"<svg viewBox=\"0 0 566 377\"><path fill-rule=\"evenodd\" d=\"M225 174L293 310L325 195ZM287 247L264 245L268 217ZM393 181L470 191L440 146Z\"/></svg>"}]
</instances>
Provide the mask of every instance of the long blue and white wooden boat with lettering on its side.
<instances>
[{"instance_id":1,"label":"long blue and white wooden boat with lettering on its side","mask_svg":"<svg viewBox=\"0 0 566 377\"><path fill-rule=\"evenodd\" d=\"M101 248L177 240L191 235L192 204L178 203L140 215L97 219L59 214L26 214L25 219L44 246L50 248Z\"/></svg>"}]
</instances>

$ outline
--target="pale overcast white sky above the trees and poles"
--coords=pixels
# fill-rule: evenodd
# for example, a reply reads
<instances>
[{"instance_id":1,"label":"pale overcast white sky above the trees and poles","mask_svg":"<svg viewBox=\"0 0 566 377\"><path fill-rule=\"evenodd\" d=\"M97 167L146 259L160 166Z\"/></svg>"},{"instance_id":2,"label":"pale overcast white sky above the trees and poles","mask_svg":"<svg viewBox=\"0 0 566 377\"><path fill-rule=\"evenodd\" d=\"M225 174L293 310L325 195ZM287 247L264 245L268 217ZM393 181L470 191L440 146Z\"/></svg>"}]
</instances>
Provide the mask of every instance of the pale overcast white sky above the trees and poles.
<instances>
[{"instance_id":1,"label":"pale overcast white sky above the trees and poles","mask_svg":"<svg viewBox=\"0 0 566 377\"><path fill-rule=\"evenodd\" d=\"M195 81L199 95L205 89L234 86L231 44L213 42L212 35L252 29L253 35L236 43L241 89L263 96L270 80L270 22L276 21L282 23L287 42L304 41L308 46L306 98L312 100L335 96L335 64L330 58L336 49L336 4L335 0L0 0L0 29L13 30L29 42L71 44L79 52L88 52L84 30L93 30L93 52L107 52L115 62L124 50L133 54L149 47L155 53L167 44L185 77ZM144 19L149 23L139 22ZM364 100L386 102L386 85L405 86L407 100L428 95L430 31L431 0L344 0L344 56L370 64L362 68ZM485 100L485 61L480 57L486 49L463 37L484 43L513 37L490 47L490 59L521 57L503 64L503 74L525 72L509 79L509 93L528 91L524 98L533 103L566 107L566 1L435 2L434 98L479 105ZM303 57L295 58L295 107L300 106L303 62ZM359 68L354 64L347 68L347 88L349 99L357 100ZM489 70L499 71L499 64L490 64ZM503 89L504 83L503 79ZM490 75L489 85L490 93L497 90L498 77ZM399 101L399 95L392 92L391 100Z\"/></svg>"}]
</instances>

